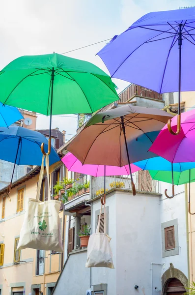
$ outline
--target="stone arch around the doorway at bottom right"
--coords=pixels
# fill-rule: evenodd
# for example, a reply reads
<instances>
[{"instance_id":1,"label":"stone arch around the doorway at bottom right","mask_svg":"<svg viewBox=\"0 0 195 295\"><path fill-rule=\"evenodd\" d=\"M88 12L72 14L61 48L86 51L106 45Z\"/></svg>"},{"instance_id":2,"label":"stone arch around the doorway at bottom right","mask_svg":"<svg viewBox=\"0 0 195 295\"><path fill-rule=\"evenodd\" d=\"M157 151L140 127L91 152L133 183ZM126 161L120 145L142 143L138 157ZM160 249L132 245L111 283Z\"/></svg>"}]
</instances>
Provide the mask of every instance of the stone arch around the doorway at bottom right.
<instances>
[{"instance_id":1,"label":"stone arch around the doorway at bottom right","mask_svg":"<svg viewBox=\"0 0 195 295\"><path fill-rule=\"evenodd\" d=\"M170 263L170 267L161 277L162 295L166 295L167 285L172 278L178 279L184 285L184 287L188 287L188 278L181 270L174 268L173 264Z\"/></svg>"}]
</instances>

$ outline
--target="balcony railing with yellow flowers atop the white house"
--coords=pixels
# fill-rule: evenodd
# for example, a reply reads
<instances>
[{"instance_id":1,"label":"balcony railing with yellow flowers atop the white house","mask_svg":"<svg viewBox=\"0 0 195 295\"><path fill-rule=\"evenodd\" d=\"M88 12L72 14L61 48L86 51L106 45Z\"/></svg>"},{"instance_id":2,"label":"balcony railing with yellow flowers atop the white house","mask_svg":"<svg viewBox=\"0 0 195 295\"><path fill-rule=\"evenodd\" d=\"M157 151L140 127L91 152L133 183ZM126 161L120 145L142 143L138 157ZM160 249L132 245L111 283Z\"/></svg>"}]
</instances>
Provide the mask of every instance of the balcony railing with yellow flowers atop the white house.
<instances>
[{"instance_id":1,"label":"balcony railing with yellow flowers atop the white house","mask_svg":"<svg viewBox=\"0 0 195 295\"><path fill-rule=\"evenodd\" d=\"M133 180L137 191L159 193L159 181L148 179L143 181L138 172L133 173ZM106 177L106 191L113 188L131 190L131 177L128 176L111 176ZM104 193L104 177L93 177L92 179L92 198Z\"/></svg>"}]
</instances>

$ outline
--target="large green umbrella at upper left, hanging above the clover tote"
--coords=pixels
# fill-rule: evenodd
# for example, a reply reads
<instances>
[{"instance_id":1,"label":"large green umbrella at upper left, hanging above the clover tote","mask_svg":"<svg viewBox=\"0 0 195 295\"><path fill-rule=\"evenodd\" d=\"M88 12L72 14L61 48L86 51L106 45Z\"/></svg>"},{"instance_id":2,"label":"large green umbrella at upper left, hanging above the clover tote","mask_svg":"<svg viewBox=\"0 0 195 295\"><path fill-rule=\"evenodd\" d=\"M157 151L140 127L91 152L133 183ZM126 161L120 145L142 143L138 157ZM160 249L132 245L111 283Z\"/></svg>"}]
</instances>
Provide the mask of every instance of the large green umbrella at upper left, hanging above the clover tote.
<instances>
[{"instance_id":1,"label":"large green umbrella at upper left, hanging above the clover tote","mask_svg":"<svg viewBox=\"0 0 195 295\"><path fill-rule=\"evenodd\" d=\"M0 72L0 102L51 118L93 113L116 100L115 85L104 71L56 53L14 59Z\"/></svg>"}]
</instances>

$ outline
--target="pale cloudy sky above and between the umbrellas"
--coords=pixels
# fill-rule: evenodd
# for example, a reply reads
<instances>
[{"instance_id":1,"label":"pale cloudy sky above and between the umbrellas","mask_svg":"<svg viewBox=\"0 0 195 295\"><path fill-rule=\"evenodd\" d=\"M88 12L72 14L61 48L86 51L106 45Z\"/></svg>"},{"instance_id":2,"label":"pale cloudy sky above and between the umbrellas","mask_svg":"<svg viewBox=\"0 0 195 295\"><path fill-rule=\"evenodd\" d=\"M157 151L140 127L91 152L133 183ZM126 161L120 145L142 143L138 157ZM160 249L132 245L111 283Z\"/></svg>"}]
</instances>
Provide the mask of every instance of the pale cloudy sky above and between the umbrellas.
<instances>
[{"instance_id":1,"label":"pale cloudy sky above and between the umbrellas","mask_svg":"<svg viewBox=\"0 0 195 295\"><path fill-rule=\"evenodd\" d=\"M112 38L148 12L193 4L193 0L1 0L0 69L23 55L62 54ZM90 61L108 73L96 56L105 44L65 55ZM116 79L113 82L118 92L129 85ZM66 130L70 139L76 133L75 117L54 116L52 127ZM49 128L49 118L38 116L37 129L45 128Z\"/></svg>"}]
</instances>

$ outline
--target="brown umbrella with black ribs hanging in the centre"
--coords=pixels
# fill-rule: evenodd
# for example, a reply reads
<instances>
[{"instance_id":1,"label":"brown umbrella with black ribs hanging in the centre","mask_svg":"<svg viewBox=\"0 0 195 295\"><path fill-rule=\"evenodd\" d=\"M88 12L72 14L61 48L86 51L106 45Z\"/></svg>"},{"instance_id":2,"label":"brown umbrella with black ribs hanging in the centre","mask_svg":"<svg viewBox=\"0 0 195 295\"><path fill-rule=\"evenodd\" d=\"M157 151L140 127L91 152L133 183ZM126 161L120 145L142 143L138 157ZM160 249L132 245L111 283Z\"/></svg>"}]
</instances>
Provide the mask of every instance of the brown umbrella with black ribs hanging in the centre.
<instances>
[{"instance_id":1,"label":"brown umbrella with black ribs hanging in the centre","mask_svg":"<svg viewBox=\"0 0 195 295\"><path fill-rule=\"evenodd\" d=\"M117 105L94 115L67 150L83 164L129 165L135 195L130 163L156 156L148 149L171 117L155 108Z\"/></svg>"}]
</instances>

